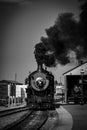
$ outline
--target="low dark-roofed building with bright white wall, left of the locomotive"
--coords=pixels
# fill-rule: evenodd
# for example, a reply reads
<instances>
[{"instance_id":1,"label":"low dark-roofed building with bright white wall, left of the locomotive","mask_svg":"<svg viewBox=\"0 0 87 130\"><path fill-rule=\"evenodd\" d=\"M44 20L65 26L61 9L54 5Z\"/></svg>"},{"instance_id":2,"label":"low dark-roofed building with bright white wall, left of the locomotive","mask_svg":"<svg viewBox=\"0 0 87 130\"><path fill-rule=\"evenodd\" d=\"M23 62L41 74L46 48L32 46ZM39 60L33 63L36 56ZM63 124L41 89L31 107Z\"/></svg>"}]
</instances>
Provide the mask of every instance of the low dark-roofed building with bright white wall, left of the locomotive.
<instances>
[{"instance_id":1,"label":"low dark-roofed building with bright white wall, left of the locomotive","mask_svg":"<svg viewBox=\"0 0 87 130\"><path fill-rule=\"evenodd\" d=\"M26 86L12 80L0 81L0 105L12 106L25 102Z\"/></svg>"}]
</instances>

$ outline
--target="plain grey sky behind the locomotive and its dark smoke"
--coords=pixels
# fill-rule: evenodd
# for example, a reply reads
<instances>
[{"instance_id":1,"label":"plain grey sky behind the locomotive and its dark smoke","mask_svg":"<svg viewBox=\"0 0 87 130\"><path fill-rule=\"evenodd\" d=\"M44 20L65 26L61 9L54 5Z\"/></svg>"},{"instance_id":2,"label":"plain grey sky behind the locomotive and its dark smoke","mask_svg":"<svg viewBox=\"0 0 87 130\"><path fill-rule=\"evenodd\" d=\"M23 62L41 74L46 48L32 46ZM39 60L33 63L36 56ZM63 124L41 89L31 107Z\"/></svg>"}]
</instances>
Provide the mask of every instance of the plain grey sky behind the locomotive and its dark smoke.
<instances>
[{"instance_id":1,"label":"plain grey sky behind the locomotive and its dark smoke","mask_svg":"<svg viewBox=\"0 0 87 130\"><path fill-rule=\"evenodd\" d=\"M78 0L0 0L0 80L24 82L36 69L34 46L59 13L79 14ZM52 69L56 79L72 66Z\"/></svg>"}]
</instances>

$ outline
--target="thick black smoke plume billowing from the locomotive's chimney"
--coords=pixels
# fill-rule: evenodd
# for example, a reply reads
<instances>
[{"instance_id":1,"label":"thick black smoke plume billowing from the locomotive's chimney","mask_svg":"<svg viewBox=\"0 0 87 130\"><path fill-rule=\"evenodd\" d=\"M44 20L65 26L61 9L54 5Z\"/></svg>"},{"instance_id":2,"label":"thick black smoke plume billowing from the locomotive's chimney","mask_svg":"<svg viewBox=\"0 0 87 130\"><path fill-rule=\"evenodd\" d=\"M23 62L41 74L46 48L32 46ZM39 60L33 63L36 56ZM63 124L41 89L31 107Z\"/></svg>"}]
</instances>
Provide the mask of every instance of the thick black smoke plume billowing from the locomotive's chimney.
<instances>
[{"instance_id":1,"label":"thick black smoke plume billowing from the locomotive's chimney","mask_svg":"<svg viewBox=\"0 0 87 130\"><path fill-rule=\"evenodd\" d=\"M85 19L87 20L87 17ZM58 63L66 65L71 61L72 51L75 52L78 62L86 59L87 36L84 37L82 33L83 24L81 18L79 21L74 18L73 13L60 14L55 24L45 30L47 37L41 37L41 42L35 45L36 61L48 67L56 66Z\"/></svg>"}]
</instances>

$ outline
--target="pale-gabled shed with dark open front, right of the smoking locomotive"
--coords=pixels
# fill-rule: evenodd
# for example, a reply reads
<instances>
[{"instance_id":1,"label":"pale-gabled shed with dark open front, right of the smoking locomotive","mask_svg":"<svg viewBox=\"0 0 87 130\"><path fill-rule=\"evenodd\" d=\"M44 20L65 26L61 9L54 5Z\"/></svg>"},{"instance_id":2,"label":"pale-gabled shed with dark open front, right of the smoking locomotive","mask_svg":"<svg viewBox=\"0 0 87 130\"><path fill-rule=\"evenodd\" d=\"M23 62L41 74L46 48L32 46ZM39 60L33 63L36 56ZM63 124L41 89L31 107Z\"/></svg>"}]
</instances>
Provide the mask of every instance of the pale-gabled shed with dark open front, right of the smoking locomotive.
<instances>
[{"instance_id":1,"label":"pale-gabled shed with dark open front, right of the smoking locomotive","mask_svg":"<svg viewBox=\"0 0 87 130\"><path fill-rule=\"evenodd\" d=\"M87 86L87 61L74 67L73 69L63 73L65 86L65 102L71 94L71 90L75 85L80 85L83 82Z\"/></svg>"}]
</instances>

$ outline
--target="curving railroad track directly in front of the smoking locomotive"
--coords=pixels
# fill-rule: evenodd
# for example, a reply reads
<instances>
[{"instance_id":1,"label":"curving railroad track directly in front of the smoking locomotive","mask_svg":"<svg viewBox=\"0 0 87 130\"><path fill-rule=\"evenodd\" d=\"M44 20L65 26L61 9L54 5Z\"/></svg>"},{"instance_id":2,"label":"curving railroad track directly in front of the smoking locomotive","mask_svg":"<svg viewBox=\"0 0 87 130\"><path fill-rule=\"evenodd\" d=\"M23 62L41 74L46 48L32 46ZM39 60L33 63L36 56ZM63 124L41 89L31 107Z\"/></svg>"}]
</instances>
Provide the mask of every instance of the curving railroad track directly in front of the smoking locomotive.
<instances>
[{"instance_id":1,"label":"curving railroad track directly in front of the smoking locomotive","mask_svg":"<svg viewBox=\"0 0 87 130\"><path fill-rule=\"evenodd\" d=\"M48 119L47 111L32 111L2 130L40 130Z\"/></svg>"}]
</instances>

